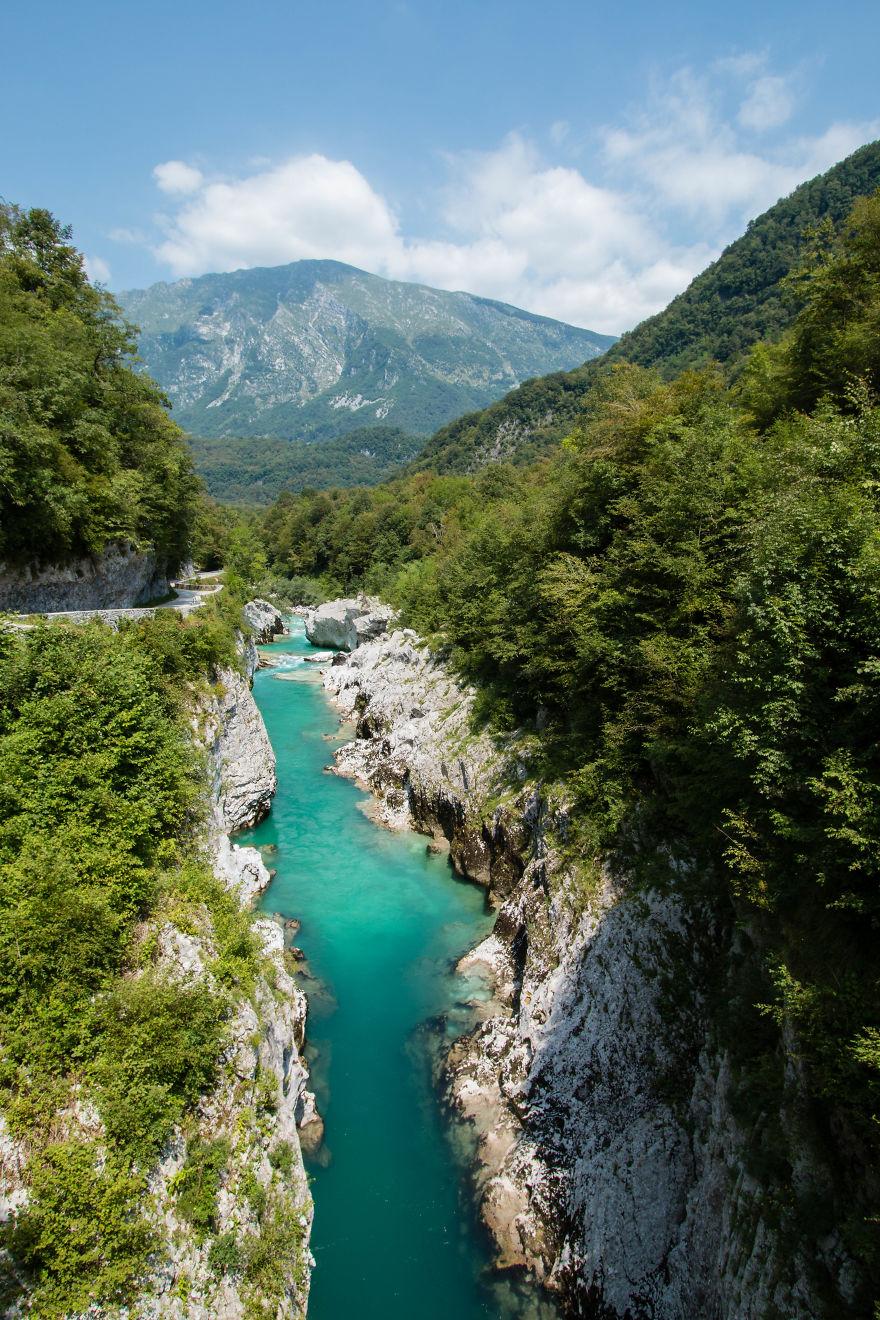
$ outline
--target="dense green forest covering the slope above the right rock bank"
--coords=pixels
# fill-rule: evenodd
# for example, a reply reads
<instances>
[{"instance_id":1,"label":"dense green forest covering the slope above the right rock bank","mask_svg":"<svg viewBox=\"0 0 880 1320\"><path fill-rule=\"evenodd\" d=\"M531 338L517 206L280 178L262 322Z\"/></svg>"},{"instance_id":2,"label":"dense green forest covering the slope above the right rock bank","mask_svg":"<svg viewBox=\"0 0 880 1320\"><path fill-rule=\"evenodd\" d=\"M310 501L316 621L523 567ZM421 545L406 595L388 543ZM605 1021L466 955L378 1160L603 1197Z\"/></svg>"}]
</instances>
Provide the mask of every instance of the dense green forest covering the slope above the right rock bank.
<instances>
[{"instance_id":1,"label":"dense green forest covering the slope above the right rock bank","mask_svg":"<svg viewBox=\"0 0 880 1320\"><path fill-rule=\"evenodd\" d=\"M584 855L739 924L751 957L716 994L741 1102L778 1111L797 1052L838 1181L796 1212L879 1284L880 193L788 289L794 323L735 375L608 364L530 469L284 495L237 553L391 597L483 718L541 730L532 771ZM764 1140L788 1204L794 1155Z\"/></svg>"}]
</instances>

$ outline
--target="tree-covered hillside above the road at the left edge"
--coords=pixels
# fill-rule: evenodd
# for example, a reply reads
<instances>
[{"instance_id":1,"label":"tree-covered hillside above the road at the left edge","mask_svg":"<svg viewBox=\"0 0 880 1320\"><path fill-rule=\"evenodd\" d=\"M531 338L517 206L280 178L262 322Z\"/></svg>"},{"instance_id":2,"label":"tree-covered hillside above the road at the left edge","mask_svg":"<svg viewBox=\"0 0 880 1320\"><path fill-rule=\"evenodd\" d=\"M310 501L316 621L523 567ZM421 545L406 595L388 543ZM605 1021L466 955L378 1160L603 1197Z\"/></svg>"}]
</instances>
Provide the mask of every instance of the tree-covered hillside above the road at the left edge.
<instances>
[{"instance_id":1,"label":"tree-covered hillside above the road at the left edge","mask_svg":"<svg viewBox=\"0 0 880 1320\"><path fill-rule=\"evenodd\" d=\"M186 556L199 483L132 327L94 289L70 231L0 206L0 562L149 543Z\"/></svg>"}]
</instances>

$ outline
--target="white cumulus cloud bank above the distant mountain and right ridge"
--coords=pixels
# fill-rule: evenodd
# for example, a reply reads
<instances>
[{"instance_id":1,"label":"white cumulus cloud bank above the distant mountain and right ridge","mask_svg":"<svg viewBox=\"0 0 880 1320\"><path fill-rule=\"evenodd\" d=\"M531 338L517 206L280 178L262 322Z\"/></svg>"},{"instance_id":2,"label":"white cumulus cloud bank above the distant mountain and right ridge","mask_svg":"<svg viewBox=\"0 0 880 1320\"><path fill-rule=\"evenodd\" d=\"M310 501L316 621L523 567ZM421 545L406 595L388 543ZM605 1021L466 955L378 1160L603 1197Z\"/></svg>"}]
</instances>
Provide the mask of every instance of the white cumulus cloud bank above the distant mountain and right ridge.
<instances>
[{"instance_id":1,"label":"white cumulus cloud bank above the distant mountain and right ridge","mask_svg":"<svg viewBox=\"0 0 880 1320\"><path fill-rule=\"evenodd\" d=\"M154 177L174 213L160 218L153 251L177 276L329 257L619 333L665 306L748 219L880 129L780 140L793 104L789 79L761 54L702 77L679 70L599 129L590 168L546 160L519 133L445 157L434 232L421 235L351 161L255 157L237 178L165 161ZM549 125L559 153L569 129ZM772 145L756 149L757 133Z\"/></svg>"}]
</instances>

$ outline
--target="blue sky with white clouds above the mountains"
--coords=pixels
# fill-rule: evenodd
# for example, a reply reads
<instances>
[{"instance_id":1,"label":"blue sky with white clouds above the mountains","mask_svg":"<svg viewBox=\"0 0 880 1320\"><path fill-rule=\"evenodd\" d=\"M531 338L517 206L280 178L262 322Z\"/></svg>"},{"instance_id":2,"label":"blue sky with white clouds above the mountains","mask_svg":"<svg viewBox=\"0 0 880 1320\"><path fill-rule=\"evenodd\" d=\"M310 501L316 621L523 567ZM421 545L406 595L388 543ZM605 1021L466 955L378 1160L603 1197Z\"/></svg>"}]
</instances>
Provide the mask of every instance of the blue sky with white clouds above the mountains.
<instances>
[{"instance_id":1,"label":"blue sky with white clouds above the mountains","mask_svg":"<svg viewBox=\"0 0 880 1320\"><path fill-rule=\"evenodd\" d=\"M331 257L620 334L880 137L880 5L8 7L0 197L112 292Z\"/></svg>"}]
</instances>

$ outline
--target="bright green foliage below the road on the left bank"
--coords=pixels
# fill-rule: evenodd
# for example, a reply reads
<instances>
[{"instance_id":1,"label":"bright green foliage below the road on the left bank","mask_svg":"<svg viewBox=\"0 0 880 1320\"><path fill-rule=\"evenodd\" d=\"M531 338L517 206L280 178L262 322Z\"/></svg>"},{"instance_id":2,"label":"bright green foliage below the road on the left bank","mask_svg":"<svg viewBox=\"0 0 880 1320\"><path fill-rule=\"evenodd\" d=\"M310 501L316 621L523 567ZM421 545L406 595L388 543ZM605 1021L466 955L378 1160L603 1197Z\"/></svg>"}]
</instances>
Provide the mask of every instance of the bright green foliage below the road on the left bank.
<instances>
[{"instance_id":1,"label":"bright green foliage below the road on the left bank","mask_svg":"<svg viewBox=\"0 0 880 1320\"><path fill-rule=\"evenodd\" d=\"M141 1175L214 1084L231 1005L263 965L248 913L194 850L187 701L235 659L236 623L223 593L117 632L0 631L0 1100L30 1151L9 1246L33 1313L132 1295L152 1241ZM153 965L164 923L208 937L210 979ZM58 1140L95 1111L100 1144ZM223 1162L211 1147L201 1163L204 1191ZM204 1196L182 1192L207 1232Z\"/></svg>"}]
</instances>

